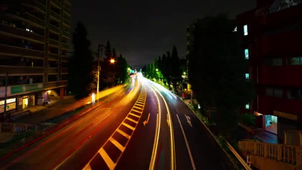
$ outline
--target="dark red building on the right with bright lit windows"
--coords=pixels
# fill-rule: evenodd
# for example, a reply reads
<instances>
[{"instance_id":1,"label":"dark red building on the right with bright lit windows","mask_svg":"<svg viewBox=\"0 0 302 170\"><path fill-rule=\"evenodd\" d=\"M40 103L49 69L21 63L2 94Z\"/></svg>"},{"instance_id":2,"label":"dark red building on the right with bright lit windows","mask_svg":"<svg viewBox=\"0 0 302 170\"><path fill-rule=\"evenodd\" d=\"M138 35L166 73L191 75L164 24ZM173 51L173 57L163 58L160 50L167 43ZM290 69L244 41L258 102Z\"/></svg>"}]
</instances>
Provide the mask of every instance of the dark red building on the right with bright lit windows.
<instances>
[{"instance_id":1,"label":"dark red building on the right with bright lit windows","mask_svg":"<svg viewBox=\"0 0 302 170\"><path fill-rule=\"evenodd\" d=\"M237 16L246 76L255 98L245 107L259 116L263 130L277 134L302 129L302 0L257 0Z\"/></svg>"}]
</instances>

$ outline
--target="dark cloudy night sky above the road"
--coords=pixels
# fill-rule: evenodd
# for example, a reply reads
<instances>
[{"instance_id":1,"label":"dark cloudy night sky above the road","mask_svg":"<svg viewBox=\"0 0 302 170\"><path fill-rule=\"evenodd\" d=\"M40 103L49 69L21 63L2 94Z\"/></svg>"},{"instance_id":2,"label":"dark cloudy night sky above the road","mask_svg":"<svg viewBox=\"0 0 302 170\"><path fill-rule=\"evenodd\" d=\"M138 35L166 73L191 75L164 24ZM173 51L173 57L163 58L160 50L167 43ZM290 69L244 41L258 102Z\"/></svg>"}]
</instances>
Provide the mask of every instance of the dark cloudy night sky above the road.
<instances>
[{"instance_id":1,"label":"dark cloudy night sky above the road","mask_svg":"<svg viewBox=\"0 0 302 170\"><path fill-rule=\"evenodd\" d=\"M93 49L110 40L131 66L151 63L176 45L185 57L186 27L195 18L253 9L256 0L72 0L72 22L83 22Z\"/></svg>"}]
</instances>

